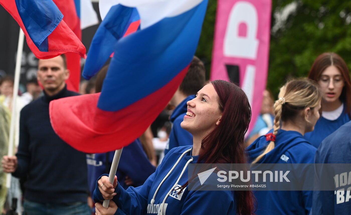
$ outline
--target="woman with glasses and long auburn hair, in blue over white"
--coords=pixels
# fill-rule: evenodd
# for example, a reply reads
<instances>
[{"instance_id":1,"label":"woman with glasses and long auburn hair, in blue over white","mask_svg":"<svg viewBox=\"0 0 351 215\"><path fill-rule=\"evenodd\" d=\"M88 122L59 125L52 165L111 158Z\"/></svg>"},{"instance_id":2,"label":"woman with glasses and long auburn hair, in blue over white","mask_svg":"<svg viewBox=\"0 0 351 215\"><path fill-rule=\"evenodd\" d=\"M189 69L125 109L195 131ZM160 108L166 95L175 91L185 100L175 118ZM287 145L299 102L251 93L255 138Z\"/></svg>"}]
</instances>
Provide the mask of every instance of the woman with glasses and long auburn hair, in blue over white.
<instances>
[{"instance_id":1,"label":"woman with glasses and long auburn hair, in blue over white","mask_svg":"<svg viewBox=\"0 0 351 215\"><path fill-rule=\"evenodd\" d=\"M323 53L313 62L308 78L316 81L322 92L322 115L314 130L305 134L305 139L318 148L327 136L350 121L350 74L343 58Z\"/></svg>"}]
</instances>

